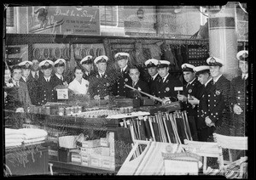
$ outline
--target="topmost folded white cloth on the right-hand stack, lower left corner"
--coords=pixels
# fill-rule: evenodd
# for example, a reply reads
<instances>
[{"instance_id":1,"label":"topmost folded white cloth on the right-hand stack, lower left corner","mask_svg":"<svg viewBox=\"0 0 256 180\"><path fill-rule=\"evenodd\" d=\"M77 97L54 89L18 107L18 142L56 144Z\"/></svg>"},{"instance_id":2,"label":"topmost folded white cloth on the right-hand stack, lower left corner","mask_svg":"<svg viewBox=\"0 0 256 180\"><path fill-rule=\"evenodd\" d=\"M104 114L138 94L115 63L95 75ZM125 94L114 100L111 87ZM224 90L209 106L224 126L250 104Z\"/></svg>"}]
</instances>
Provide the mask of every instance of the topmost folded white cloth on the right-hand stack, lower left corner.
<instances>
[{"instance_id":1,"label":"topmost folded white cloth on the right-hand stack, lower left corner","mask_svg":"<svg viewBox=\"0 0 256 180\"><path fill-rule=\"evenodd\" d=\"M18 131L24 135L24 139L42 138L48 135L44 129L22 128Z\"/></svg>"}]
</instances>

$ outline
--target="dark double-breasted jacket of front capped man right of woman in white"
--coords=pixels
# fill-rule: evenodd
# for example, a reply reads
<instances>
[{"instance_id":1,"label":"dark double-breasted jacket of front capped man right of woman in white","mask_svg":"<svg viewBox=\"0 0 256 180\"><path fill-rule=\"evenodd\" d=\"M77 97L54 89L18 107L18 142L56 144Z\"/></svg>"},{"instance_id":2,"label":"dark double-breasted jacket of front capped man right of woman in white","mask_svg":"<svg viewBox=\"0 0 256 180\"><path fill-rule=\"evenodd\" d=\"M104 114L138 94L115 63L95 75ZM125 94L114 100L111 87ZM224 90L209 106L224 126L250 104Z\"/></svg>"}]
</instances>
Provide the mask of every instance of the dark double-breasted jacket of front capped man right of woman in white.
<instances>
[{"instance_id":1,"label":"dark double-breasted jacket of front capped man right of woman in white","mask_svg":"<svg viewBox=\"0 0 256 180\"><path fill-rule=\"evenodd\" d=\"M112 95L112 76L110 73L105 72L101 77L99 73L90 76L89 93L90 97L94 98L95 95L99 95L100 98L104 98L107 95Z\"/></svg>"}]
</instances>

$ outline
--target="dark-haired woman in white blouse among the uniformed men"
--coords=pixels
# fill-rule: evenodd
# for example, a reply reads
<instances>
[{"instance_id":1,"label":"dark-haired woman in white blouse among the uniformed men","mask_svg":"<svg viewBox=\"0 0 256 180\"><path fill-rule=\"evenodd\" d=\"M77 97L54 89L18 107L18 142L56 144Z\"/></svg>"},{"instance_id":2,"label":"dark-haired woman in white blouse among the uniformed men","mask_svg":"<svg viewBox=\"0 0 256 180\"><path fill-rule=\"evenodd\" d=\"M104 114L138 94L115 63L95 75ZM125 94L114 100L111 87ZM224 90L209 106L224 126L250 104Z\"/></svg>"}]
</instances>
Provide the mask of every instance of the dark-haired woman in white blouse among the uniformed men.
<instances>
[{"instance_id":1,"label":"dark-haired woman in white blouse among the uniformed men","mask_svg":"<svg viewBox=\"0 0 256 180\"><path fill-rule=\"evenodd\" d=\"M68 88L75 94L87 94L89 82L83 78L84 72L80 66L74 68L74 80L70 82Z\"/></svg>"}]
</instances>

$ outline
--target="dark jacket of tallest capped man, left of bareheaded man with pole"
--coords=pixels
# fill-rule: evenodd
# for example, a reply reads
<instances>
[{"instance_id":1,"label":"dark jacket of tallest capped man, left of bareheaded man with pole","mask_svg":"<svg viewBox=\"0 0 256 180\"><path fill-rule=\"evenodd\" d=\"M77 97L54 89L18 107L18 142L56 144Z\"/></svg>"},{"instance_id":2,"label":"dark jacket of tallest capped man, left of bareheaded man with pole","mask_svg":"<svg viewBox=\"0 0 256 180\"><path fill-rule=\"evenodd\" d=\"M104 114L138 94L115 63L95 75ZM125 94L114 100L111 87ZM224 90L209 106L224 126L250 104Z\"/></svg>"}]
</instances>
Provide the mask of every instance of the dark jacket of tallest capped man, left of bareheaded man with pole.
<instances>
[{"instance_id":1,"label":"dark jacket of tallest capped man, left of bareheaded man with pole","mask_svg":"<svg viewBox=\"0 0 256 180\"><path fill-rule=\"evenodd\" d=\"M124 72L118 70L116 72L116 81L113 84L113 95L114 96L126 96L127 87L126 83L131 84L131 77L129 76L129 66L126 67Z\"/></svg>"}]
</instances>

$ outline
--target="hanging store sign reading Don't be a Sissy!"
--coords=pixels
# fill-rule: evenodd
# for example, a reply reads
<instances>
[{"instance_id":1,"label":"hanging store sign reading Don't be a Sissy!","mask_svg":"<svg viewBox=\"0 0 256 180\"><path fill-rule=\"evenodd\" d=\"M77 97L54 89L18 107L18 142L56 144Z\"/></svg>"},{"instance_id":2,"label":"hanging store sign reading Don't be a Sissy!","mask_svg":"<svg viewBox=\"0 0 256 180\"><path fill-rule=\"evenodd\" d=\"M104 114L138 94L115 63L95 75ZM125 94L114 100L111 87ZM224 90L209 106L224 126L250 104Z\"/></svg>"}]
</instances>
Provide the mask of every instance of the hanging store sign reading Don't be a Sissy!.
<instances>
[{"instance_id":1,"label":"hanging store sign reading Don't be a Sissy!","mask_svg":"<svg viewBox=\"0 0 256 180\"><path fill-rule=\"evenodd\" d=\"M100 35L99 8L28 7L29 34Z\"/></svg>"}]
</instances>

